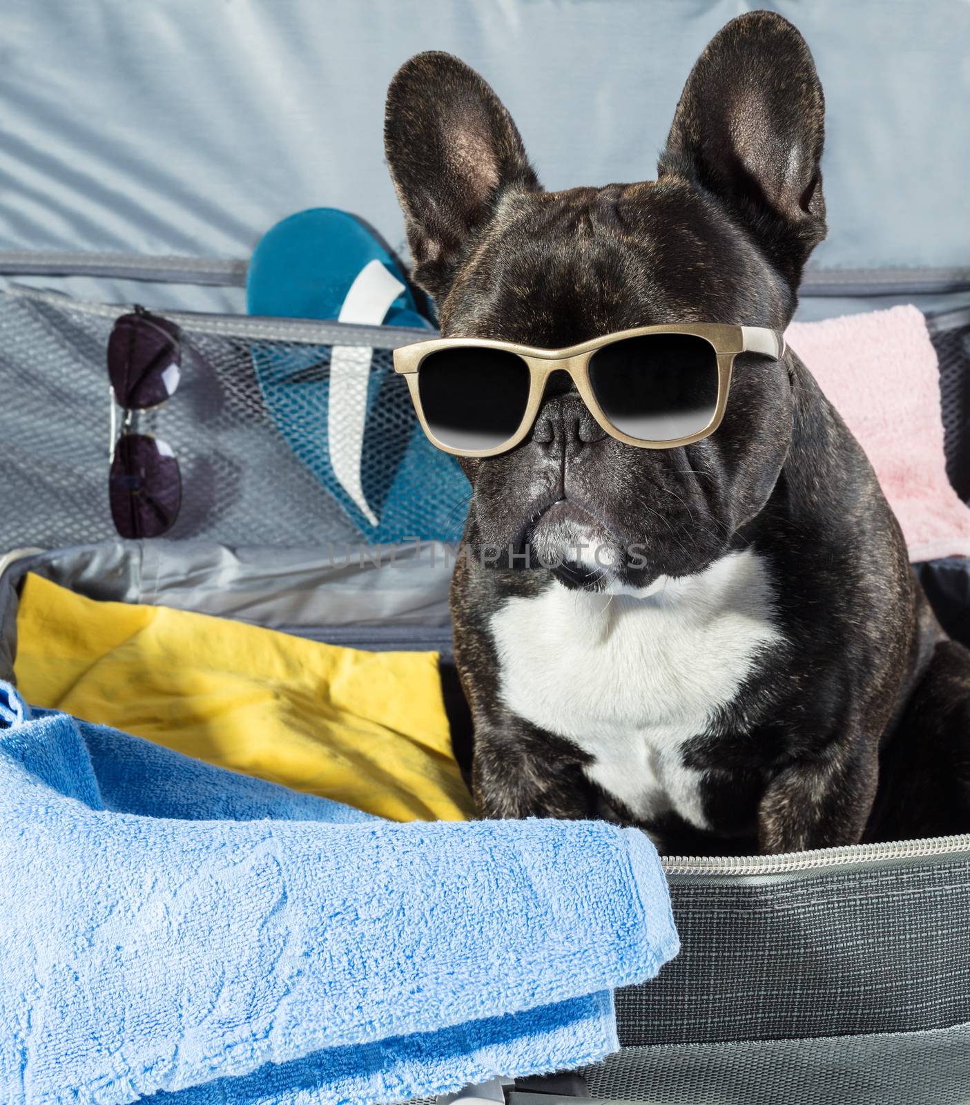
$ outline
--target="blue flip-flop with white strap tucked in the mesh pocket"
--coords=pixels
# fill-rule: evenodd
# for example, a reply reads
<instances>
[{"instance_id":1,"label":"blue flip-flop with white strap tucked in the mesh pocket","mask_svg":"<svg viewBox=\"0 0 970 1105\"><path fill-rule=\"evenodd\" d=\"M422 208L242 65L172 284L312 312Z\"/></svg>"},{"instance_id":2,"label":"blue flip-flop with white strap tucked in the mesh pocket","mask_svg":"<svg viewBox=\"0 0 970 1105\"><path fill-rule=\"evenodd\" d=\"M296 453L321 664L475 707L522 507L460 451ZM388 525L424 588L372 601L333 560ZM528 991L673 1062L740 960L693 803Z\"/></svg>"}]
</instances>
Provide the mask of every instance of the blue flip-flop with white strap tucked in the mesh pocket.
<instances>
[{"instance_id":1,"label":"blue flip-flop with white strap tucked in the mesh pocket","mask_svg":"<svg viewBox=\"0 0 970 1105\"><path fill-rule=\"evenodd\" d=\"M263 236L246 303L252 315L433 329L383 243L331 208L291 215ZM468 482L424 436L386 350L267 345L253 349L253 365L291 449L367 543L461 535Z\"/></svg>"}]
</instances>

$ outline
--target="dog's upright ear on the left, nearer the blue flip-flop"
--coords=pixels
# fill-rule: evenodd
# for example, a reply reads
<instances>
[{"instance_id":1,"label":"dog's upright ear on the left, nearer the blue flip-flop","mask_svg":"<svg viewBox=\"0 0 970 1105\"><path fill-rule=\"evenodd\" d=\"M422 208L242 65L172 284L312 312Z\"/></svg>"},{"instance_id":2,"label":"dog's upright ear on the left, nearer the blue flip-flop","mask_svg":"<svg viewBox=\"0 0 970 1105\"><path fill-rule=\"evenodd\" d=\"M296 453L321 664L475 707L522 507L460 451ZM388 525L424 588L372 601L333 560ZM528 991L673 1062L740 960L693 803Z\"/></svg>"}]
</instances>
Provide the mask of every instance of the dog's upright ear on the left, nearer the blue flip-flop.
<instances>
[{"instance_id":1,"label":"dog's upright ear on the left, nearer the blue flip-flop","mask_svg":"<svg viewBox=\"0 0 970 1105\"><path fill-rule=\"evenodd\" d=\"M507 188L539 190L502 102L451 54L417 54L388 88L384 150L404 211L414 282L441 299L462 245Z\"/></svg>"}]
</instances>

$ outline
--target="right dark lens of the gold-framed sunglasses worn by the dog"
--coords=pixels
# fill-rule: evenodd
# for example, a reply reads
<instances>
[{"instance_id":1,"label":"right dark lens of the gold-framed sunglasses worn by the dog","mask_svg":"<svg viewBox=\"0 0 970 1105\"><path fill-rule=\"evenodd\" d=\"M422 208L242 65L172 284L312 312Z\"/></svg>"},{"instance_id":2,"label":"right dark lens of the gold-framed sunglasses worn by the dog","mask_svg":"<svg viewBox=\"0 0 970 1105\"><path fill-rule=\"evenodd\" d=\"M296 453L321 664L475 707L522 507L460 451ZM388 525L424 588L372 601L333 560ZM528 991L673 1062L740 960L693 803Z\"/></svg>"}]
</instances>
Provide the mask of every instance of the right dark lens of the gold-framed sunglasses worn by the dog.
<instances>
[{"instance_id":1,"label":"right dark lens of the gold-framed sunglasses worn by the dog","mask_svg":"<svg viewBox=\"0 0 970 1105\"><path fill-rule=\"evenodd\" d=\"M590 359L589 376L610 422L640 441L689 438L717 408L717 355L692 334L646 334L603 346Z\"/></svg>"}]
</instances>

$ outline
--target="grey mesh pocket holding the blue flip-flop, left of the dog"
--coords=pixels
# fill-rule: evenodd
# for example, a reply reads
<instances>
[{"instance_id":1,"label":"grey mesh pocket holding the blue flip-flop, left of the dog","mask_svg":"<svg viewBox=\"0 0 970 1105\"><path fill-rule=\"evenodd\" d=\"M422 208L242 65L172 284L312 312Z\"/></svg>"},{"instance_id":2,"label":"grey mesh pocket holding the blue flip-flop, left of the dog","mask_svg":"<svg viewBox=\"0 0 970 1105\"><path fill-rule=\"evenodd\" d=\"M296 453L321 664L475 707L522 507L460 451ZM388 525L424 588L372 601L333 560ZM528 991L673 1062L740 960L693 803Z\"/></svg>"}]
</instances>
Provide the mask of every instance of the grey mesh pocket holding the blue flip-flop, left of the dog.
<instances>
[{"instance_id":1,"label":"grey mesh pocket holding the blue flip-flop, left of the dog","mask_svg":"<svg viewBox=\"0 0 970 1105\"><path fill-rule=\"evenodd\" d=\"M109 313L70 302L0 295L3 548L116 536L106 370L113 323ZM362 377L363 432L355 438L350 428L346 440L330 441L331 346L179 325L178 390L134 425L167 442L179 462L182 505L167 538L330 544L342 555L348 545L461 536L467 481L421 432L390 349L355 350L362 356L350 358L349 370ZM335 422L335 433L345 433L344 423ZM342 481L335 451L345 456ZM348 471L359 472L358 487Z\"/></svg>"}]
</instances>

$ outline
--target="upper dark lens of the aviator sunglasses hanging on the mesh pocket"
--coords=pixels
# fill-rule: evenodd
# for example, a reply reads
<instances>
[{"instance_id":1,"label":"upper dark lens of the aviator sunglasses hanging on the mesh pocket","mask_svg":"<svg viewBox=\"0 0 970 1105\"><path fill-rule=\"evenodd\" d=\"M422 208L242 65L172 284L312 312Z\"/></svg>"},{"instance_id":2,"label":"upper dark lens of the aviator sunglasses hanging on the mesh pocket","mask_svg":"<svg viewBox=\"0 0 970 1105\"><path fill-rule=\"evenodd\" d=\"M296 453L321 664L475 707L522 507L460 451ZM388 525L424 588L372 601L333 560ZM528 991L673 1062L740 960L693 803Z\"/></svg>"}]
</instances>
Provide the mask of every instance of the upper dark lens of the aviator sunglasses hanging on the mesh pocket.
<instances>
[{"instance_id":1,"label":"upper dark lens of the aviator sunglasses hanging on the mesh pocket","mask_svg":"<svg viewBox=\"0 0 970 1105\"><path fill-rule=\"evenodd\" d=\"M179 385L179 328L156 315L122 315L108 338L108 376L129 410L157 407Z\"/></svg>"}]
</instances>

